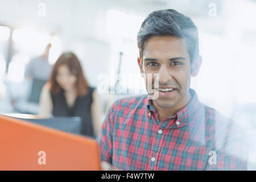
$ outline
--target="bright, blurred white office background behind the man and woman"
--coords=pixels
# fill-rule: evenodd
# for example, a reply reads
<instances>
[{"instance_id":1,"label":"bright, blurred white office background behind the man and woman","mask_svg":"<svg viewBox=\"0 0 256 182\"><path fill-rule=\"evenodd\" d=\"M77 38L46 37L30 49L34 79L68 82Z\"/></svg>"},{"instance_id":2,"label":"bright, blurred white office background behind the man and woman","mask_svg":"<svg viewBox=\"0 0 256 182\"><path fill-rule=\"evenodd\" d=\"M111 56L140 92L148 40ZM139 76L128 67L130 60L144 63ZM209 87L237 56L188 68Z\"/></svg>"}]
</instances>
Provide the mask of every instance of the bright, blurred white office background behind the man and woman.
<instances>
[{"instance_id":1,"label":"bright, blurred white office background behind the man and woman","mask_svg":"<svg viewBox=\"0 0 256 182\"><path fill-rule=\"evenodd\" d=\"M0 0L0 113L38 114L40 84L26 70L50 44L49 65L64 51L79 57L104 103L103 121L118 98L146 93L136 36L143 19L160 9L195 22L203 64L191 87L201 102L245 127L249 169L256 169L255 0Z\"/></svg>"}]
</instances>

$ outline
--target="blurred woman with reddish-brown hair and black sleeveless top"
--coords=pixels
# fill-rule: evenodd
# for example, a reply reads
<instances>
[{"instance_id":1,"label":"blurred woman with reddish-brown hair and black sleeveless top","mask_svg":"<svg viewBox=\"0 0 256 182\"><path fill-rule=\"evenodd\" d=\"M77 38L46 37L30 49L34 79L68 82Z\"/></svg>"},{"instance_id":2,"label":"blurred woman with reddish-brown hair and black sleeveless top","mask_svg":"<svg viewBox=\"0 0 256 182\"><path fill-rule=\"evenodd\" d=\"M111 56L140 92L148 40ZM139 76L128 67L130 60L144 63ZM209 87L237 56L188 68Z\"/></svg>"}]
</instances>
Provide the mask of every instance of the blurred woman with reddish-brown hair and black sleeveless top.
<instances>
[{"instance_id":1,"label":"blurred woman with reddish-brown hair and black sleeveless top","mask_svg":"<svg viewBox=\"0 0 256 182\"><path fill-rule=\"evenodd\" d=\"M96 137L101 128L102 105L97 90L88 85L76 55L60 55L40 96L40 117L78 116L81 133Z\"/></svg>"}]
</instances>

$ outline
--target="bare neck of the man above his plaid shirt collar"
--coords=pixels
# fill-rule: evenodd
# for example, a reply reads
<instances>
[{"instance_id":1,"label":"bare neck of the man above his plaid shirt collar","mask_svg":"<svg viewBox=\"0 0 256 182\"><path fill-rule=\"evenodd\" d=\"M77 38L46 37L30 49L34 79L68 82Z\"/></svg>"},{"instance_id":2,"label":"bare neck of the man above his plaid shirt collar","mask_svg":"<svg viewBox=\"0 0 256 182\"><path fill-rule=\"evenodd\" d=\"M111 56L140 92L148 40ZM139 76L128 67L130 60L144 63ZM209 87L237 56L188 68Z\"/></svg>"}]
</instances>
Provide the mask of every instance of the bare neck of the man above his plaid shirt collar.
<instances>
[{"instance_id":1,"label":"bare neck of the man above his plaid shirt collar","mask_svg":"<svg viewBox=\"0 0 256 182\"><path fill-rule=\"evenodd\" d=\"M158 112L158 119L159 119L159 121L162 121L164 118L171 117L171 116L175 115L177 113L177 111L179 111L185 105L188 104L188 102L191 100L191 97L192 97L191 94L188 92L187 96L184 97L183 100L181 100L179 102L179 104L177 104L176 106L171 107L171 108L159 107L153 101L152 105L155 107L156 111Z\"/></svg>"}]
</instances>

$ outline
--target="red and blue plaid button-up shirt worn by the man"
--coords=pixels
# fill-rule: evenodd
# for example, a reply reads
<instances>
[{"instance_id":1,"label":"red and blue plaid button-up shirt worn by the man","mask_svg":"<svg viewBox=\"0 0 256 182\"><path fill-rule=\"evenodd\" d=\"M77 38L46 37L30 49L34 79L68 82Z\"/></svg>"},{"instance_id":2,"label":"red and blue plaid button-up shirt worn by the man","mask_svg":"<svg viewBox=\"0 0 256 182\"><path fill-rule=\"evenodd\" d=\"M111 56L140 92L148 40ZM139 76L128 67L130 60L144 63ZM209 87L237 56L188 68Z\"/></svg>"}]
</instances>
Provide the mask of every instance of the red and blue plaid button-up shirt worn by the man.
<instances>
[{"instance_id":1,"label":"red and blue plaid button-up shirt worn by the man","mask_svg":"<svg viewBox=\"0 0 256 182\"><path fill-rule=\"evenodd\" d=\"M159 121L149 96L115 101L98 136L101 160L123 170L246 170L245 133L192 99Z\"/></svg>"}]
</instances>

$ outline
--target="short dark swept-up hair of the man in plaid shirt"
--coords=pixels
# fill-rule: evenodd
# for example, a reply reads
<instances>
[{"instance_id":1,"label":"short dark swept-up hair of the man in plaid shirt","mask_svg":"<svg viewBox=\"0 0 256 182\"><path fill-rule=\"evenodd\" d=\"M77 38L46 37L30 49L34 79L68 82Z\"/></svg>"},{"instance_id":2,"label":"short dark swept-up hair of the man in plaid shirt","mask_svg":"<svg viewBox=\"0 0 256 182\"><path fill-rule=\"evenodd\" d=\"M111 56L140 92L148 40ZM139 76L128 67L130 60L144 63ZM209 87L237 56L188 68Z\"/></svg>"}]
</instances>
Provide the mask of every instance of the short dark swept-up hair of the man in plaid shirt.
<instances>
[{"instance_id":1,"label":"short dark swept-up hair of the man in plaid shirt","mask_svg":"<svg viewBox=\"0 0 256 182\"><path fill-rule=\"evenodd\" d=\"M145 42L152 36L175 36L183 38L191 63L199 54L199 39L195 24L191 18L176 10L153 11L144 19L137 35L139 56L143 57Z\"/></svg>"}]
</instances>

